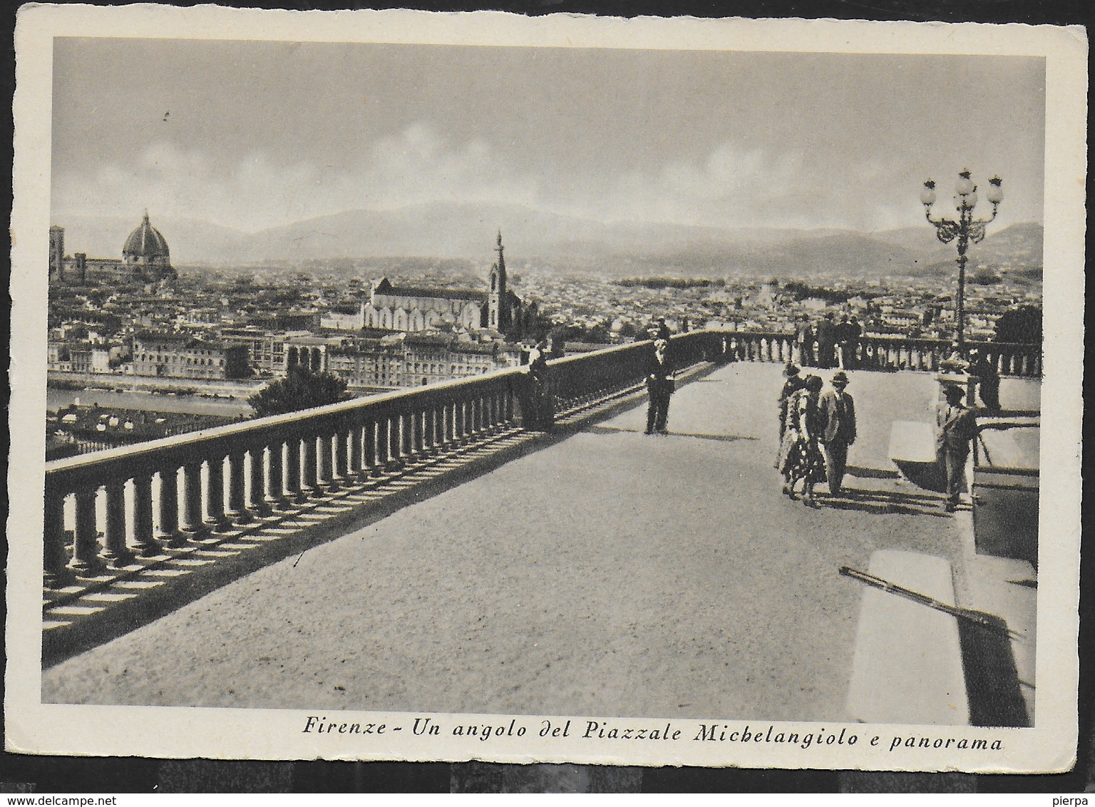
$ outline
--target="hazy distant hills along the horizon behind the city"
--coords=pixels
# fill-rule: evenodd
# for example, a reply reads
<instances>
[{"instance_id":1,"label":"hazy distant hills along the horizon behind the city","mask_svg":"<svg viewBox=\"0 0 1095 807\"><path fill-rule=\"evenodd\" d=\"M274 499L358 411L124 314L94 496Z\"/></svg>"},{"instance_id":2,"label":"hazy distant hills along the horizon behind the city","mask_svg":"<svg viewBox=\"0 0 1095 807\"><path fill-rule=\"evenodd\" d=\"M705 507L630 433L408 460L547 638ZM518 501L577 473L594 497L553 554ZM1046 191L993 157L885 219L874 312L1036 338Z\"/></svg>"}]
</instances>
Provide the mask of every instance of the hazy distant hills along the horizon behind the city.
<instances>
[{"instance_id":1,"label":"hazy distant hills along the horizon behind the city","mask_svg":"<svg viewBox=\"0 0 1095 807\"><path fill-rule=\"evenodd\" d=\"M120 253L139 218L65 217L66 247L94 257ZM717 228L658 222L600 222L521 206L429 203L392 210L346 210L256 233L192 219L157 219L176 265L292 264L379 256L493 260L500 229L506 254L522 261L573 262L613 276L770 274L808 278L950 272L954 245L923 227L877 232ZM970 247L971 265L1040 270L1042 227L1027 222L992 232Z\"/></svg>"}]
</instances>

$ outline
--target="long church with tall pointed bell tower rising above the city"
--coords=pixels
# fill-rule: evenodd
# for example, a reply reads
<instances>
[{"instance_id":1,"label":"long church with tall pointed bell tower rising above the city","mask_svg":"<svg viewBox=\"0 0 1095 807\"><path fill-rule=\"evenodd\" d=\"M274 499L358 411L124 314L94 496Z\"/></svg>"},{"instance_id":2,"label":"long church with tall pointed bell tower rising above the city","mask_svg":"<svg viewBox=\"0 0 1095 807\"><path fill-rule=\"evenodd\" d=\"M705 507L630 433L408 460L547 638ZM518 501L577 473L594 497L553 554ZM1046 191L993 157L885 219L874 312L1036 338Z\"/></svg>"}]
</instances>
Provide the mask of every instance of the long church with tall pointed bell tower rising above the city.
<instances>
[{"instance_id":1,"label":"long church with tall pointed bell tower rising above the city","mask_svg":"<svg viewBox=\"0 0 1095 807\"><path fill-rule=\"evenodd\" d=\"M427 289L394 286L387 277L372 287L361 305L365 327L384 331L476 331L505 333L521 310L521 300L507 287L505 247L498 233L498 260L491 267L487 290Z\"/></svg>"}]
</instances>

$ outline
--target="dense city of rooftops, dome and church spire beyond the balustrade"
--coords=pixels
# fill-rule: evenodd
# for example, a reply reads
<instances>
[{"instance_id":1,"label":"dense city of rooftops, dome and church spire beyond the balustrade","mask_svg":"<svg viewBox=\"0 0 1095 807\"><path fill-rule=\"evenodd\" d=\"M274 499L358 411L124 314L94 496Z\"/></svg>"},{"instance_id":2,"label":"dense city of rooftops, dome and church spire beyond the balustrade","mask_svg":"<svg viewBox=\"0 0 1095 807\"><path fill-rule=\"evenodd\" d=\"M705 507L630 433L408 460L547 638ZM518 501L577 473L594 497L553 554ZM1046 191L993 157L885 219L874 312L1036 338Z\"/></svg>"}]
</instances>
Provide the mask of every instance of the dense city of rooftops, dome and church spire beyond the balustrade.
<instances>
[{"instance_id":1,"label":"dense city of rooftops, dome and church spire beyond the balustrade","mask_svg":"<svg viewBox=\"0 0 1095 807\"><path fill-rule=\"evenodd\" d=\"M176 268L147 215L120 260L68 254L60 226L50 231L50 250L51 439L97 433L102 440L84 441L92 448L114 445L111 434L149 439L250 415L246 399L298 366L337 377L351 394L372 394L521 366L538 344L557 357L644 339L658 318L672 332L791 334L832 313L851 316L863 335L954 333L946 272L860 280L834 273L807 284L729 273L607 277L596 267L523 257L507 269L500 232L493 264L384 258ZM1040 276L1011 269L976 267L967 338L996 338L1003 314L1039 309ZM175 400L115 413L88 407L95 390ZM180 406L184 399L201 400ZM232 405L218 410L210 403L218 400Z\"/></svg>"}]
</instances>

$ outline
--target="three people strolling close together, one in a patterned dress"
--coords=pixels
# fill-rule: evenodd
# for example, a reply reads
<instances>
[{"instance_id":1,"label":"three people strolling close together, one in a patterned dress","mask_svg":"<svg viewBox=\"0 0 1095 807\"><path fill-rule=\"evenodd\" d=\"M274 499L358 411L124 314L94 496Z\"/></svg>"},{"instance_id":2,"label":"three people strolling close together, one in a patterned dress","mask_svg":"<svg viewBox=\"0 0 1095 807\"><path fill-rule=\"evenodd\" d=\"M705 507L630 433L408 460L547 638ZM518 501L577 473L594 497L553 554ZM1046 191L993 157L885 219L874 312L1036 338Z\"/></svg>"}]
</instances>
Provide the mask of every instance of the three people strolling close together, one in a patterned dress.
<instances>
[{"instance_id":1,"label":"three people strolling close together, one in a patterned dress","mask_svg":"<svg viewBox=\"0 0 1095 807\"><path fill-rule=\"evenodd\" d=\"M784 368L780 393L780 456L783 493L818 507L814 486L827 483L830 496L844 493L848 449L855 442L855 401L848 390L848 373L835 372L827 388L820 376L803 376L793 364Z\"/></svg>"}]
</instances>

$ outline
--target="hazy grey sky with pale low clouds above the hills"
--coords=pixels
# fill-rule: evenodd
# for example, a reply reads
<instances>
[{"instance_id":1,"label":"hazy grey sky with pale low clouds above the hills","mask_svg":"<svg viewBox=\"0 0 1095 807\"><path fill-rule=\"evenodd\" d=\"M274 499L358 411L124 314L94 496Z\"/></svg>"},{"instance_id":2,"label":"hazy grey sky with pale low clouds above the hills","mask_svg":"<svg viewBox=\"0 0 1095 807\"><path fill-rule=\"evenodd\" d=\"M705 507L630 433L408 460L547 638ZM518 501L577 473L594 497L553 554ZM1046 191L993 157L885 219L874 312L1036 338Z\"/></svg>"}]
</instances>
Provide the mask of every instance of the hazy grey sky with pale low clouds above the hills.
<instances>
[{"instance_id":1,"label":"hazy grey sky with pale low clouds above the hills","mask_svg":"<svg viewBox=\"0 0 1095 807\"><path fill-rule=\"evenodd\" d=\"M1004 177L1040 221L1036 58L57 39L53 212L257 231L354 208L519 204L602 221L922 221Z\"/></svg>"}]
</instances>

